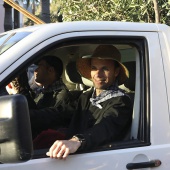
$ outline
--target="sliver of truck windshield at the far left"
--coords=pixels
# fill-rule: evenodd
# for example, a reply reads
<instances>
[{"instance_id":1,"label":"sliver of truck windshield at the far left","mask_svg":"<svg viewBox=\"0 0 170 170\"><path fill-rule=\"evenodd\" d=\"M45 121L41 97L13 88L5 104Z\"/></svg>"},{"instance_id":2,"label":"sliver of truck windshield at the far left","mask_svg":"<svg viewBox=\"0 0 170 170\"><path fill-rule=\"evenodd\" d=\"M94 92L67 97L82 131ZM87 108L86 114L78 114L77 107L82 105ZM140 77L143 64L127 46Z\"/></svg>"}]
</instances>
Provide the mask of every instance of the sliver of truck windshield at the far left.
<instances>
[{"instance_id":1,"label":"sliver of truck windshield at the far left","mask_svg":"<svg viewBox=\"0 0 170 170\"><path fill-rule=\"evenodd\" d=\"M8 50L29 34L31 34L31 32L16 32L0 35L0 54Z\"/></svg>"}]
</instances>

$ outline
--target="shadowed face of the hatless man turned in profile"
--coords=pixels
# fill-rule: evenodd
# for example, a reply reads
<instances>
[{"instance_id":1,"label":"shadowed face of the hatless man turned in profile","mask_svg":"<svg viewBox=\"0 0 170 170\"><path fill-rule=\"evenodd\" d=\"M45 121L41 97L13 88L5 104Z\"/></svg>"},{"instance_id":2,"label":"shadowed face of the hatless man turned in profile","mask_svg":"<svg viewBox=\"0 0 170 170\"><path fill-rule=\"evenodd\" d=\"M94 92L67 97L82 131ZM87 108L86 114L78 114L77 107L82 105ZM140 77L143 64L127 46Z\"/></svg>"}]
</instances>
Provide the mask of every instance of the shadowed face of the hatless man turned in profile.
<instances>
[{"instance_id":1,"label":"shadowed face of the hatless man turned in profile","mask_svg":"<svg viewBox=\"0 0 170 170\"><path fill-rule=\"evenodd\" d=\"M38 67L34 71L35 81L37 83L41 83L42 85L46 83L46 81L48 80L48 76L49 76L48 69L49 69L49 66L47 65L45 60L41 60L38 63Z\"/></svg>"}]
</instances>

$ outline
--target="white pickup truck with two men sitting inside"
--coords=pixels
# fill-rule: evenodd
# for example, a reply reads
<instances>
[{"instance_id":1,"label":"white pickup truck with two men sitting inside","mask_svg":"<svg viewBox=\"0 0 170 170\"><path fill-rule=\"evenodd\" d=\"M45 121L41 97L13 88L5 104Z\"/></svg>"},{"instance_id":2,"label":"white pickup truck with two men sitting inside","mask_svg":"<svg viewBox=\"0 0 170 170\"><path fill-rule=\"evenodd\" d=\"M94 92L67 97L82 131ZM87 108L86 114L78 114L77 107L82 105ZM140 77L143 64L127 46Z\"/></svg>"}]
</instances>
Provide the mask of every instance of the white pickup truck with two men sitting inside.
<instances>
[{"instance_id":1,"label":"white pickup truck with two men sitting inside","mask_svg":"<svg viewBox=\"0 0 170 170\"><path fill-rule=\"evenodd\" d=\"M122 88L134 100L132 126L122 141L50 159L33 150L27 100L5 86L43 55L60 57L70 91L90 87L75 61L99 44L113 44L130 77ZM162 24L70 22L25 27L0 34L0 170L170 169L170 28Z\"/></svg>"}]
</instances>

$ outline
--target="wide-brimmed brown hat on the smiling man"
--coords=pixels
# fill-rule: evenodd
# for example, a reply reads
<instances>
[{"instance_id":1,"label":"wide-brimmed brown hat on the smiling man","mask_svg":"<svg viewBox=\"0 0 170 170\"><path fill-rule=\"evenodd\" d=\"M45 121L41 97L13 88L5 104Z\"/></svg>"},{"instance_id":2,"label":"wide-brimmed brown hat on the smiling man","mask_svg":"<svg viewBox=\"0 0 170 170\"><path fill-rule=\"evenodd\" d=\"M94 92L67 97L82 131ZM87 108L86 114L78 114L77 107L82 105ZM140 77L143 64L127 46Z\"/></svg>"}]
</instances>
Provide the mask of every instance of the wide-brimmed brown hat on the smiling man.
<instances>
[{"instance_id":1,"label":"wide-brimmed brown hat on the smiling man","mask_svg":"<svg viewBox=\"0 0 170 170\"><path fill-rule=\"evenodd\" d=\"M129 77L128 69L121 63L121 54L119 50L113 45L99 45L92 54L91 57L79 58L77 60L77 69L79 73L91 80L91 59L98 58L103 60L114 60L120 66L120 72L118 75L118 84L121 85Z\"/></svg>"}]
</instances>

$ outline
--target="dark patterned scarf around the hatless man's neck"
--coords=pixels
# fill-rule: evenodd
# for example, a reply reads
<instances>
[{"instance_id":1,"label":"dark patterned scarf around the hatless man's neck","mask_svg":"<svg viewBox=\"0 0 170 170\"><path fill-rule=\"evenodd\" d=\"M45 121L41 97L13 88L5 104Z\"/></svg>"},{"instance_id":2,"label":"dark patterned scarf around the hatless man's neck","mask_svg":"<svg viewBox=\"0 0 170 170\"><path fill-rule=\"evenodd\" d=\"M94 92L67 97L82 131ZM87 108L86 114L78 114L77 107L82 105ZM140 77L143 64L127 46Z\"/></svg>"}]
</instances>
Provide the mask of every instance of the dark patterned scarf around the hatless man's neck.
<instances>
[{"instance_id":1,"label":"dark patterned scarf around the hatless man's neck","mask_svg":"<svg viewBox=\"0 0 170 170\"><path fill-rule=\"evenodd\" d=\"M49 85L47 88L41 89L42 93L48 93L48 92L53 92L53 91L60 91L67 89L66 85L63 83L62 79L57 80L53 84Z\"/></svg>"}]
</instances>

